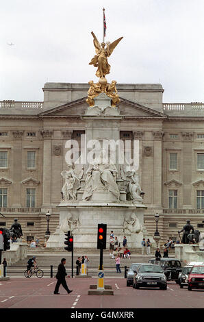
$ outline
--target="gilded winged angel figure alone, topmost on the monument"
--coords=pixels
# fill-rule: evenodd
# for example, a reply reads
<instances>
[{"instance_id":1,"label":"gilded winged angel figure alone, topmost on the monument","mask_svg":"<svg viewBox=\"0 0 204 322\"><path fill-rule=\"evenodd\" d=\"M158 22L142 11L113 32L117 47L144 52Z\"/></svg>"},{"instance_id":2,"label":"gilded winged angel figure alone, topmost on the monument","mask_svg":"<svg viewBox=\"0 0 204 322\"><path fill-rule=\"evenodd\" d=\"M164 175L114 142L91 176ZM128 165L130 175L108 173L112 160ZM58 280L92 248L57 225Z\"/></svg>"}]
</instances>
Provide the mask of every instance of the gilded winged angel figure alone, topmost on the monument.
<instances>
[{"instance_id":1,"label":"gilded winged angel figure alone, topmost on the monument","mask_svg":"<svg viewBox=\"0 0 204 322\"><path fill-rule=\"evenodd\" d=\"M118 42L120 42L123 37L118 38L112 43L107 42L105 48L105 42L101 42L100 44L94 33L91 32L91 34L94 38L94 47L97 55L94 55L94 58L92 58L89 64L94 65L94 67L98 67L96 73L97 77L105 77L105 75L110 73L110 64L108 64L107 58L112 54L112 52L118 45Z\"/></svg>"}]
</instances>

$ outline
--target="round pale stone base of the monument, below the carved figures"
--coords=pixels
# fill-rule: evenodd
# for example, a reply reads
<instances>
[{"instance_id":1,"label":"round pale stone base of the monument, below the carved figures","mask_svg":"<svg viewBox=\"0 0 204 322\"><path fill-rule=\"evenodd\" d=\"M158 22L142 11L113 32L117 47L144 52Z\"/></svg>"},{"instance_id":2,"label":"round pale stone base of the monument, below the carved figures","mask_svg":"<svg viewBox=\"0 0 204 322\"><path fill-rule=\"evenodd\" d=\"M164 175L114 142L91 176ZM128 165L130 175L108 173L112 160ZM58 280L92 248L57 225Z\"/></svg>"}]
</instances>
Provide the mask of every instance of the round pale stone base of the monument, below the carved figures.
<instances>
[{"instance_id":1,"label":"round pale stone base of the monument, below the carved figures","mask_svg":"<svg viewBox=\"0 0 204 322\"><path fill-rule=\"evenodd\" d=\"M134 204L131 201L116 203L79 201L62 203L58 209L60 225L47 240L47 247L64 247L64 234L70 230L74 235L75 248L96 248L98 223L107 224L107 249L111 230L114 230L120 243L125 235L130 249L141 247L143 231L133 233L125 230L124 223L125 219L130 220L131 216L136 214L137 220L143 226L146 207L142 204Z\"/></svg>"}]
</instances>

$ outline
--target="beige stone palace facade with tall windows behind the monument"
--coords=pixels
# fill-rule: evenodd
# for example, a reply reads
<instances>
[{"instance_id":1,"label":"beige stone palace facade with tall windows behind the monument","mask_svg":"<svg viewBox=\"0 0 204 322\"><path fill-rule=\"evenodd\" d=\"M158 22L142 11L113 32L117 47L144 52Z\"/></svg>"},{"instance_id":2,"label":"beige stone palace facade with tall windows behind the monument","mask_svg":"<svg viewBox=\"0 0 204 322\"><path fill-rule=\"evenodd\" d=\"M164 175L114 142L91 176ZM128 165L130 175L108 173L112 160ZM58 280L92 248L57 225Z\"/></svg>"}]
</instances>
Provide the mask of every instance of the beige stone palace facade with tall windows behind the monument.
<instances>
[{"instance_id":1,"label":"beige stone palace facade with tall windows behind the monument","mask_svg":"<svg viewBox=\"0 0 204 322\"><path fill-rule=\"evenodd\" d=\"M139 140L144 225L178 238L187 219L204 232L204 103L164 103L161 84L118 84L120 139ZM25 240L59 223L68 139L86 134L88 84L46 83L44 101L0 101L0 227L14 218ZM79 144L80 146L80 144ZM114 227L107 227L114 230Z\"/></svg>"}]
</instances>

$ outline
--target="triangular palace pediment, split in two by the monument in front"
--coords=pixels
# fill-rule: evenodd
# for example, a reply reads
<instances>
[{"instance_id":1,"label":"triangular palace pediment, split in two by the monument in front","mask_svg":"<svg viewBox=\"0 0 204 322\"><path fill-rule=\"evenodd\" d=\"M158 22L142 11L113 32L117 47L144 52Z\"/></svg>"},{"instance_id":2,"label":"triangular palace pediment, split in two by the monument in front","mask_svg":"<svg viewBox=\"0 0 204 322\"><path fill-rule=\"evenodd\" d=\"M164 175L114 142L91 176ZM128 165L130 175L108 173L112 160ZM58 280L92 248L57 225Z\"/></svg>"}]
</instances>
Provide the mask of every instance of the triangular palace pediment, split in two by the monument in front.
<instances>
[{"instance_id":1,"label":"triangular palace pediment, split in two by the monument in front","mask_svg":"<svg viewBox=\"0 0 204 322\"><path fill-rule=\"evenodd\" d=\"M86 98L87 97L84 97L82 99L77 99L76 101L63 104L62 106L51 108L50 110L41 112L38 114L38 116L83 116L88 108ZM138 118L166 118L163 113L158 112L157 110L147 108L146 106L142 106L138 103L134 103L121 97L118 110L121 116L133 116Z\"/></svg>"}]
</instances>

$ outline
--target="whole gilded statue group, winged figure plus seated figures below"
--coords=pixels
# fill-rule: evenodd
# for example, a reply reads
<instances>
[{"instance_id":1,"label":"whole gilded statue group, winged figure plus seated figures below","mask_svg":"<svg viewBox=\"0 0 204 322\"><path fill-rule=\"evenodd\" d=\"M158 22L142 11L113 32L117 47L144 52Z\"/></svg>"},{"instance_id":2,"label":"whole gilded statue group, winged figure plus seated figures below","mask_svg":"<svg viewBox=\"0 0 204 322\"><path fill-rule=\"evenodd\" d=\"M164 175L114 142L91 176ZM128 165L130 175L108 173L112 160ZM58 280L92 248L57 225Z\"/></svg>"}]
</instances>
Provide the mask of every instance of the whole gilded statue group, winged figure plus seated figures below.
<instances>
[{"instance_id":1,"label":"whole gilded statue group, winged figure plus seated figures below","mask_svg":"<svg viewBox=\"0 0 204 322\"><path fill-rule=\"evenodd\" d=\"M123 37L118 38L114 42L106 43L99 42L97 37L91 32L94 38L94 47L97 55L94 55L94 58L90 61L90 65L97 67L96 75L99 77L99 82L94 84L93 81L90 81L90 88L88 90L88 99L86 99L89 106L94 106L94 97L97 97L101 92L104 92L108 97L112 99L112 107L115 107L119 103L118 92L116 90L116 81L112 81L112 84L107 83L105 75L110 73L110 64L107 62L107 58L110 57L118 42L120 42Z\"/></svg>"}]
</instances>

